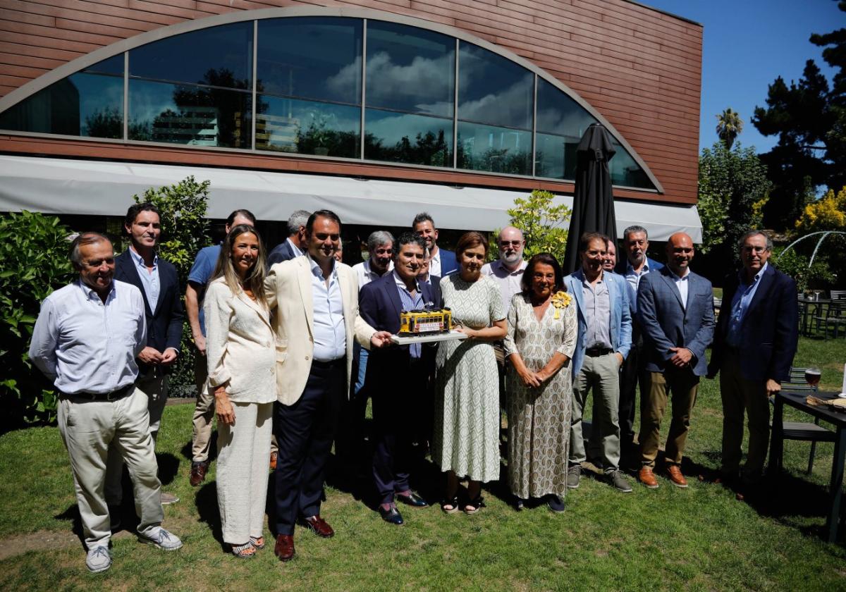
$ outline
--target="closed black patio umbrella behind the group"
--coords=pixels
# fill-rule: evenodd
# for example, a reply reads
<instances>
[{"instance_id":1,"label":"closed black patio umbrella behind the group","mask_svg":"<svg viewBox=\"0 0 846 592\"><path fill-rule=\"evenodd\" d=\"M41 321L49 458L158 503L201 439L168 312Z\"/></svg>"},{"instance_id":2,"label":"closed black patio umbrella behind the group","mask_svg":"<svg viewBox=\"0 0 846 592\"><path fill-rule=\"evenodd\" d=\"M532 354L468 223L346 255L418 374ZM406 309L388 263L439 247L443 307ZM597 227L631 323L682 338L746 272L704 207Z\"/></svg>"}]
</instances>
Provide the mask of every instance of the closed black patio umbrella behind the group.
<instances>
[{"instance_id":1,"label":"closed black patio umbrella behind the group","mask_svg":"<svg viewBox=\"0 0 846 592\"><path fill-rule=\"evenodd\" d=\"M607 234L617 241L617 218L608 161L614 153L611 134L599 123L585 131L576 148L576 187L573 215L570 217L563 271L572 273L580 266L579 237L582 233Z\"/></svg>"}]
</instances>

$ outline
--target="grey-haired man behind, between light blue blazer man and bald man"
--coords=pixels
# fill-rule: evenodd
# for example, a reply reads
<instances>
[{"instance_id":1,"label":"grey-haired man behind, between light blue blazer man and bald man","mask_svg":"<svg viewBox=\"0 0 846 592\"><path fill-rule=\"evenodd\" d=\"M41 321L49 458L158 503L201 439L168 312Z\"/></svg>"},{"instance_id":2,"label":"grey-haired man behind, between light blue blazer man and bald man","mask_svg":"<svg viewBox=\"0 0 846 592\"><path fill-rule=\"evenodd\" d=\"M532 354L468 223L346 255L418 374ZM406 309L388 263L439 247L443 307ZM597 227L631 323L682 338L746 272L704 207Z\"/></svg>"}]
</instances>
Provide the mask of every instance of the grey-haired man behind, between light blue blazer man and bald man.
<instances>
[{"instance_id":1,"label":"grey-haired man behind, between light blue blazer man and bald man","mask_svg":"<svg viewBox=\"0 0 846 592\"><path fill-rule=\"evenodd\" d=\"M629 308L632 314L632 348L620 370L620 447L624 459L635 458L640 461L640 450L634 446L634 415L637 404L637 387L640 384L640 397L649 392L644 370L643 335L637 321L637 288L640 278L650 271L663 267L658 261L646 256L649 249L649 233L645 227L629 226L623 231L624 257L614 271L626 278L629 284ZM638 463L640 468L640 463Z\"/></svg>"}]
</instances>

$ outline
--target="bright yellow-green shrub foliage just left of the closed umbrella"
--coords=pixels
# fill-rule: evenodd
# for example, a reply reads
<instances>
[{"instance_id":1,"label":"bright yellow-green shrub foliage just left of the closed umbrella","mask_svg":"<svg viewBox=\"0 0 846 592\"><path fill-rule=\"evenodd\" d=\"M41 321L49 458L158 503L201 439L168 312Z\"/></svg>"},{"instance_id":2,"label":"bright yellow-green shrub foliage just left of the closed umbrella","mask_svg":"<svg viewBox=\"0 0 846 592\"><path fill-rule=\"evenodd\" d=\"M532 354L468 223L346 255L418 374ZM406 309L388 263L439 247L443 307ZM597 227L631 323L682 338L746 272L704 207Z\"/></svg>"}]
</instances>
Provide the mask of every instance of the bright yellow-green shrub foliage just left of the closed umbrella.
<instances>
[{"instance_id":1,"label":"bright yellow-green shrub foliage just left of the closed umbrella","mask_svg":"<svg viewBox=\"0 0 846 592\"><path fill-rule=\"evenodd\" d=\"M567 230L573 211L563 204L553 205L554 197L549 191L535 189L528 197L515 199L514 207L508 210L511 225L523 231L527 259L538 253L552 253L559 261L564 259ZM488 257L491 259L497 257L498 234L498 229L492 234L491 248L488 249Z\"/></svg>"}]
</instances>

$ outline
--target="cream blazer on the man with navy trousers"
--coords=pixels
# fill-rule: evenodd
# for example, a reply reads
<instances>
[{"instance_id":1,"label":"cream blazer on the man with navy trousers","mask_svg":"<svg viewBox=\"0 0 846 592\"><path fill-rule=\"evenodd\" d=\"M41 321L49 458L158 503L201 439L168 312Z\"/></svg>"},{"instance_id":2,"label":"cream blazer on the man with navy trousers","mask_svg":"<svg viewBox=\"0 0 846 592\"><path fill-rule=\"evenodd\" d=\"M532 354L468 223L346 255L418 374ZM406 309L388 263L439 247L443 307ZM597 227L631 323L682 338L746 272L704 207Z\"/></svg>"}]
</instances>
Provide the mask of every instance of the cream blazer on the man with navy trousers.
<instances>
[{"instance_id":1,"label":"cream blazer on the man with navy trousers","mask_svg":"<svg viewBox=\"0 0 846 592\"><path fill-rule=\"evenodd\" d=\"M359 315L359 282L353 268L335 263L347 335L347 385L353 369L353 338L370 349L376 329ZM267 304L276 329L277 396L279 403L293 405L305 390L314 357L314 305L311 266L305 255L270 268L265 280ZM349 397L349 388L347 388Z\"/></svg>"}]
</instances>

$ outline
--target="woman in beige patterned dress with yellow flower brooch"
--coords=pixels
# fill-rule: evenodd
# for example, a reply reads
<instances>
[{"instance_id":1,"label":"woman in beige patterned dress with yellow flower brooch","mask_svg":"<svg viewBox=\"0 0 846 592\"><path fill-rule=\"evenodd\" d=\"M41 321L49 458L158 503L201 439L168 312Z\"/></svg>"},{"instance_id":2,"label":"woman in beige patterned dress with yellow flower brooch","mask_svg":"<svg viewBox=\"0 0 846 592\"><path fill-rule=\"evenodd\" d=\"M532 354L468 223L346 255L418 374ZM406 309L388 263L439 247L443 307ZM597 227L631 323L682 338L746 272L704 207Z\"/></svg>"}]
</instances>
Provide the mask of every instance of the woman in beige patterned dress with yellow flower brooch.
<instances>
[{"instance_id":1,"label":"woman in beige patterned dress with yellow flower brooch","mask_svg":"<svg viewBox=\"0 0 846 592\"><path fill-rule=\"evenodd\" d=\"M508 485L523 501L546 498L563 512L567 491L576 304L563 292L558 261L535 255L523 273L523 292L508 311Z\"/></svg>"}]
</instances>

